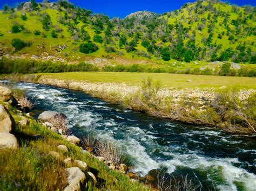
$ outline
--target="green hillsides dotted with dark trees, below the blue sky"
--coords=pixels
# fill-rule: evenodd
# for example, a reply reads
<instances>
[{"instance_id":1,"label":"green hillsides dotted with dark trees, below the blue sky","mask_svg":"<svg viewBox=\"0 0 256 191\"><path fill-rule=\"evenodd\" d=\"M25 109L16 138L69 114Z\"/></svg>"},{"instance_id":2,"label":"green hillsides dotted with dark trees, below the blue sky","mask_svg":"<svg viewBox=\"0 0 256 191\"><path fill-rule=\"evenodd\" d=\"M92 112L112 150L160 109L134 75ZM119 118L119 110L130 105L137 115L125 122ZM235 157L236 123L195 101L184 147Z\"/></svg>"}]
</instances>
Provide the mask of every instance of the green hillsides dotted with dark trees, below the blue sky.
<instances>
[{"instance_id":1,"label":"green hillsides dotted with dark trees, below the blue sky","mask_svg":"<svg viewBox=\"0 0 256 191\"><path fill-rule=\"evenodd\" d=\"M197 1L162 15L139 11L111 20L66 1L26 2L0 11L0 49L15 58L68 62L255 63L255 12L252 6Z\"/></svg>"}]
</instances>

